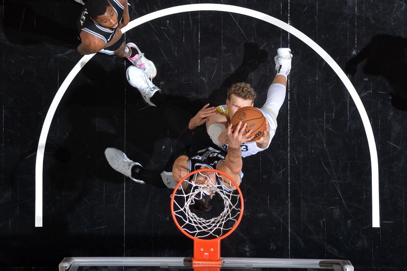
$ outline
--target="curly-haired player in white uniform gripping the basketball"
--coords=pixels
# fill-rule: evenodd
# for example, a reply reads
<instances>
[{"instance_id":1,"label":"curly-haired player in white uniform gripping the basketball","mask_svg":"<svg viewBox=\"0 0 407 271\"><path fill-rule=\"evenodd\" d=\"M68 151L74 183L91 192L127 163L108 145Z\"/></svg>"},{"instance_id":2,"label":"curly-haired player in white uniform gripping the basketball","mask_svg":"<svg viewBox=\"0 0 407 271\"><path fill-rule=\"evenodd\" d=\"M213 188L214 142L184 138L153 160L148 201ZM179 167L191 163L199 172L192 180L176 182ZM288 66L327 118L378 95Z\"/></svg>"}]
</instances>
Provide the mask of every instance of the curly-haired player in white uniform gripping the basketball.
<instances>
[{"instance_id":1,"label":"curly-haired player in white uniform gripping the basketball","mask_svg":"<svg viewBox=\"0 0 407 271\"><path fill-rule=\"evenodd\" d=\"M254 155L269 147L277 129L277 115L285 99L287 76L291 69L291 50L279 48L274 58L277 74L271 83L266 103L259 108L267 119L266 131L259 140L241 145L242 157ZM216 107L218 113L210 116L207 131L212 141L223 149L227 149L227 126L235 112L245 106L253 106L256 93L247 83L232 85L227 94L226 104Z\"/></svg>"}]
</instances>

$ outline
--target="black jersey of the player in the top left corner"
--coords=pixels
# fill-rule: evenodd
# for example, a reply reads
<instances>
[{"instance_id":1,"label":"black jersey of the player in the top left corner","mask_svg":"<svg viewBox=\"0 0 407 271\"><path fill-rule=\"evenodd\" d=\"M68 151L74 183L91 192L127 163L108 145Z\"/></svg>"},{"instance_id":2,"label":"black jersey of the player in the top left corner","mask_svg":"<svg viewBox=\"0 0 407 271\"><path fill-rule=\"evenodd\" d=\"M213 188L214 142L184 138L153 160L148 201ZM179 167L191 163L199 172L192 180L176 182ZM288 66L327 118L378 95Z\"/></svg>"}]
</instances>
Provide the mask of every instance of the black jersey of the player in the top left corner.
<instances>
[{"instance_id":1,"label":"black jersey of the player in the top left corner","mask_svg":"<svg viewBox=\"0 0 407 271\"><path fill-rule=\"evenodd\" d=\"M120 24L123 19L124 6L119 2L119 0L109 0L109 3L112 6L113 10L118 15L118 23ZM80 31L88 32L102 39L106 44L113 38L114 34L116 33L119 27L115 29L110 29L101 26L99 23L95 22L94 20L91 19L91 17L89 17L88 11L86 10L86 7L84 7L82 10L82 14L79 18L78 28L79 32ZM80 40L79 35L78 38Z\"/></svg>"}]
</instances>

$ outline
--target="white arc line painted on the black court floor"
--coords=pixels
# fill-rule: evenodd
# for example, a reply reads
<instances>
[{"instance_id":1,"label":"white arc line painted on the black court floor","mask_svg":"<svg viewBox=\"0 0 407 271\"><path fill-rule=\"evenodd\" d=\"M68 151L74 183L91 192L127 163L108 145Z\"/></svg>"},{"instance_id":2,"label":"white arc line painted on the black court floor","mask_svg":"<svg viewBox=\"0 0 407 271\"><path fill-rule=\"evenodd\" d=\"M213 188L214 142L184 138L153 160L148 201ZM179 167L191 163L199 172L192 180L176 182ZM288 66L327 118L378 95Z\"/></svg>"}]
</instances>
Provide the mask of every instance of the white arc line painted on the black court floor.
<instances>
[{"instance_id":1,"label":"white arc line painted on the black court floor","mask_svg":"<svg viewBox=\"0 0 407 271\"><path fill-rule=\"evenodd\" d=\"M127 24L123 29L122 32L125 33L126 31L132 29L135 26L138 26L142 23L149 22L151 20L164 17L167 15L182 13L182 12L191 12L191 11L223 11L228 13L238 13L245 16L250 16L259 20L263 20L265 22L271 23L275 26L280 27L281 29L287 31L289 34L294 35L299 40L307 44L311 47L319 56L321 56L324 61L334 70L334 72L338 75L339 79L347 88L347 91L351 95L356 108L359 111L360 117L362 118L363 127L366 132L367 142L369 145L369 152L370 152L370 163L371 163L371 171L372 171L372 179L371 179L371 186L372 186L372 227L380 227L380 204L379 204L379 164L377 159L377 150L376 144L374 142L374 136L372 127L369 122L369 117L367 116L366 110L360 100L358 93L356 92L355 87L352 85L351 81L347 78L345 73L339 67L339 65L334 61L334 59L324 50L316 44L313 40L308 38L304 33L299 31L293 26L276 19L270 15L254 11L247 8L237 7L237 6L230 6L230 5L223 5L223 4L191 4L191 5L184 5L184 6L177 6L172 8L167 8L159 11L155 11L153 13L144 15L139 17ZM72 82L73 78L76 74L82 69L82 67L88 63L89 59L93 57L94 54L85 55L81 58L81 60L75 65L72 71L68 74L67 78L62 83L61 87L56 92L54 99L48 109L47 115L45 116L44 124L41 130L40 140L38 142L38 149L37 149L37 158L36 158L36 165L35 165L35 183L36 183L36 200L35 200L35 226L42 227L42 190L43 190L43 162L44 162L44 150L45 144L47 141L48 131L51 126L52 118L55 114L56 108L59 105L62 97L64 96L68 86Z\"/></svg>"}]
</instances>

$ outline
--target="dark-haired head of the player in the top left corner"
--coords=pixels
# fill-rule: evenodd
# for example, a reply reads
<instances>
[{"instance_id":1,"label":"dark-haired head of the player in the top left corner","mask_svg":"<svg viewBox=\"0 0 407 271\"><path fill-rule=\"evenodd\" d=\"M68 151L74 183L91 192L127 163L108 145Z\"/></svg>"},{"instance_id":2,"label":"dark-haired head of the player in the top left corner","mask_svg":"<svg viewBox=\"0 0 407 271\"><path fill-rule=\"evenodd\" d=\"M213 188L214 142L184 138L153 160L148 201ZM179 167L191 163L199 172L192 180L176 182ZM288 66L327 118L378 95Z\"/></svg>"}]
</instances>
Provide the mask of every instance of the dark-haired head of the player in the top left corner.
<instances>
[{"instance_id":1,"label":"dark-haired head of the player in the top left corner","mask_svg":"<svg viewBox=\"0 0 407 271\"><path fill-rule=\"evenodd\" d=\"M118 14L108 0L88 0L86 10L94 21L104 27L114 29L119 26Z\"/></svg>"}]
</instances>

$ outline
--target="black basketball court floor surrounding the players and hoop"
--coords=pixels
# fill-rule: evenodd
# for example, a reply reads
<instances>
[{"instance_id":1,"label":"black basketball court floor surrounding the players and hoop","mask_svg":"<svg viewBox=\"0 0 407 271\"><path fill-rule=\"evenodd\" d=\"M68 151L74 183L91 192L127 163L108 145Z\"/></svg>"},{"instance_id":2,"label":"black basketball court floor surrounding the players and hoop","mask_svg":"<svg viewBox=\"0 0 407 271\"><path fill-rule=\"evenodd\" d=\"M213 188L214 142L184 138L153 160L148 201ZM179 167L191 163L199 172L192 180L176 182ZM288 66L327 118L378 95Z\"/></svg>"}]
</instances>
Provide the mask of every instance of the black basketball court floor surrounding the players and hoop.
<instances>
[{"instance_id":1,"label":"black basketball court floor surrounding the players and hoop","mask_svg":"<svg viewBox=\"0 0 407 271\"><path fill-rule=\"evenodd\" d=\"M126 41L155 63L153 82L186 117L207 102L223 104L227 87L238 81L250 83L255 106L263 105L277 48L292 49L276 135L267 150L244 158L245 212L222 241L222 256L405 268L404 1L129 3L131 19L209 3L288 23L332 57L366 110L377 150L380 227L372 227L374 166L361 113L314 46L260 18L227 11L179 12L126 32ZM37 148L51 102L81 59L75 50L81 5L7 0L0 7L0 269L56 268L67 256L191 256L191 240L171 219L172 191L131 182L103 154L117 147L144 167L160 169L173 152L179 123L170 111L143 103L126 80L128 61L99 53L56 107L44 147L43 225L35 227Z\"/></svg>"}]
</instances>

